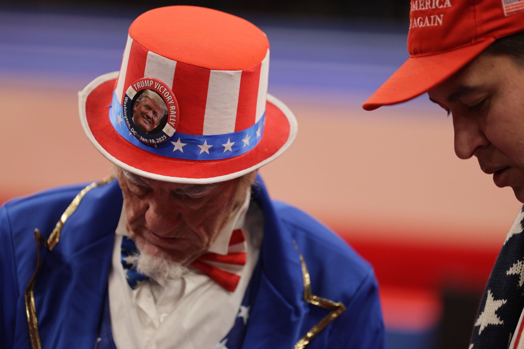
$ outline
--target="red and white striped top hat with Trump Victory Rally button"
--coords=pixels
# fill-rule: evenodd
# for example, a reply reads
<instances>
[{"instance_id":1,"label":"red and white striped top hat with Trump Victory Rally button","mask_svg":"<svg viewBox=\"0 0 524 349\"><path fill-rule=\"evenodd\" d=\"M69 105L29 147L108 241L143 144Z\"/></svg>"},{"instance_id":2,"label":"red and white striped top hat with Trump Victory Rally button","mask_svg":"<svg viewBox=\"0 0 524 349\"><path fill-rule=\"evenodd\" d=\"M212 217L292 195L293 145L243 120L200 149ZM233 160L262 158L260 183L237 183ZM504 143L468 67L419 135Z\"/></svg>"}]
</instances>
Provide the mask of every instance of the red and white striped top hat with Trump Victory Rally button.
<instances>
[{"instance_id":1,"label":"red and white striped top hat with Trump Victory Rally button","mask_svg":"<svg viewBox=\"0 0 524 349\"><path fill-rule=\"evenodd\" d=\"M118 167L151 179L213 183L274 160L297 121L267 94L269 42L248 21L169 6L129 27L119 72L79 93L84 132Z\"/></svg>"}]
</instances>

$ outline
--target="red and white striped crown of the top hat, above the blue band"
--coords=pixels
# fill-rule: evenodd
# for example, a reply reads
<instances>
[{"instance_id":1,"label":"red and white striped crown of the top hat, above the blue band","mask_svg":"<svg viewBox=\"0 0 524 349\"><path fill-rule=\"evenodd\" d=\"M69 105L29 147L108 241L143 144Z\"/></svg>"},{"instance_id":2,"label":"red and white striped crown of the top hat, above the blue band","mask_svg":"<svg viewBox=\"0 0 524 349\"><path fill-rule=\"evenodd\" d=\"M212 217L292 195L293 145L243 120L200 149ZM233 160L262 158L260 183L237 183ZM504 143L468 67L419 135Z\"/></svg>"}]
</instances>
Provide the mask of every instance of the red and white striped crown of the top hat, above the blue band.
<instances>
[{"instance_id":1,"label":"red and white striped crown of the top hat, above the blue band","mask_svg":"<svg viewBox=\"0 0 524 349\"><path fill-rule=\"evenodd\" d=\"M178 101L177 132L219 135L264 115L269 41L242 18L194 6L140 15L129 27L115 95L122 105L139 79L163 82Z\"/></svg>"}]
</instances>

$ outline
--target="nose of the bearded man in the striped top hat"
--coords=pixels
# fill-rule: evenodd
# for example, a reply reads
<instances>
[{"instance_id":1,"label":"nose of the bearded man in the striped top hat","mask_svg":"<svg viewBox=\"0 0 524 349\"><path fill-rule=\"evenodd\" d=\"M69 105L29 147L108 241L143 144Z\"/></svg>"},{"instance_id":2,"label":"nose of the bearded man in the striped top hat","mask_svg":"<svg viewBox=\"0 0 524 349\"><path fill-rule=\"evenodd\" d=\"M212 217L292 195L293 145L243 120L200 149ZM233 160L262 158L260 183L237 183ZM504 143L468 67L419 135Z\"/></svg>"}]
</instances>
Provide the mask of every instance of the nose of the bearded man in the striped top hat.
<instances>
[{"instance_id":1,"label":"nose of the bearded man in the striped top hat","mask_svg":"<svg viewBox=\"0 0 524 349\"><path fill-rule=\"evenodd\" d=\"M180 211L167 195L159 195L149 201L145 219L149 230L159 236L169 236L180 224Z\"/></svg>"}]
</instances>

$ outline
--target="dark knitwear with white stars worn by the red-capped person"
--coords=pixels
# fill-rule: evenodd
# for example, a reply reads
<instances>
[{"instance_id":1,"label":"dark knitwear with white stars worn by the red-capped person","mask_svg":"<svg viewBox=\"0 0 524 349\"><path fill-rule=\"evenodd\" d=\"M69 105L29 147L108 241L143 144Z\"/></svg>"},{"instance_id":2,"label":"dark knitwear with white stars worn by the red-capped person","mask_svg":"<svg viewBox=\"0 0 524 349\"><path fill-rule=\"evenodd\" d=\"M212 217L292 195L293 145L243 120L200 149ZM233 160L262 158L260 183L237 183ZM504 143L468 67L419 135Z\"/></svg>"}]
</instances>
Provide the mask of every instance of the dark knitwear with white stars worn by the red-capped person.
<instances>
[{"instance_id":1,"label":"dark knitwear with white stars worn by the red-capped person","mask_svg":"<svg viewBox=\"0 0 524 349\"><path fill-rule=\"evenodd\" d=\"M506 349L524 307L524 207L495 262L474 324L469 349Z\"/></svg>"}]
</instances>

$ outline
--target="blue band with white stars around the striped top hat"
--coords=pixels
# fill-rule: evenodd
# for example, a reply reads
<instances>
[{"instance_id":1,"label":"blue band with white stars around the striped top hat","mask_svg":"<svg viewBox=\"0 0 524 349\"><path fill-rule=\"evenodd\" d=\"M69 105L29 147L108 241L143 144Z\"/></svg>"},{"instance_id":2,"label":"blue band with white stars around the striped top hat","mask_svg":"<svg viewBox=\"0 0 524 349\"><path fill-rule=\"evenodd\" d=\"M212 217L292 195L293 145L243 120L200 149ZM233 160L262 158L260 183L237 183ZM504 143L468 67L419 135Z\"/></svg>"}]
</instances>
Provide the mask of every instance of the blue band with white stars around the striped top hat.
<instances>
[{"instance_id":1,"label":"blue band with white stars around the striped top hat","mask_svg":"<svg viewBox=\"0 0 524 349\"><path fill-rule=\"evenodd\" d=\"M188 135L175 132L165 143L146 145L139 141L123 120L123 107L113 92L109 119L116 132L129 143L146 151L170 158L187 160L221 160L245 154L260 141L264 132L266 113L253 126L242 131L222 135ZM180 118L183 123L183 116Z\"/></svg>"}]
</instances>

